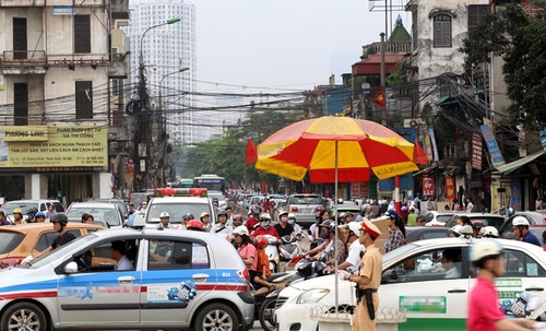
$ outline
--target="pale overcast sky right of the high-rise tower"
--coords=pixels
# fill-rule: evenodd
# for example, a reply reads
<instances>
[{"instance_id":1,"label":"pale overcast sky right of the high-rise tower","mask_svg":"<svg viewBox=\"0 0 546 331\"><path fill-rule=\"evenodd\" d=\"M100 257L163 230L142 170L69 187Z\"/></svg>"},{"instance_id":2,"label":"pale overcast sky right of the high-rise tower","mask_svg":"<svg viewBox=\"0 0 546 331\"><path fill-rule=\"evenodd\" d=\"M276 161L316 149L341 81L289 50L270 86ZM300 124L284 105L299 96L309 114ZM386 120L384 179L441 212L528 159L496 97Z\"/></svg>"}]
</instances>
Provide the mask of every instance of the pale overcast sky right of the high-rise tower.
<instances>
[{"instance_id":1,"label":"pale overcast sky right of the high-rise tower","mask_svg":"<svg viewBox=\"0 0 546 331\"><path fill-rule=\"evenodd\" d=\"M187 2L197 10L200 91L312 90L331 74L341 83L361 46L384 31L384 12L370 12L367 0ZM411 31L410 13L394 12L393 22L399 13Z\"/></svg>"}]
</instances>

